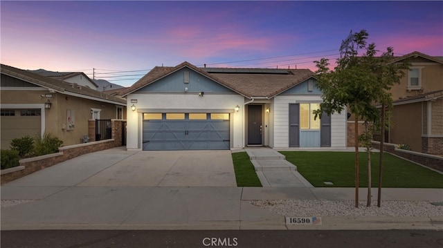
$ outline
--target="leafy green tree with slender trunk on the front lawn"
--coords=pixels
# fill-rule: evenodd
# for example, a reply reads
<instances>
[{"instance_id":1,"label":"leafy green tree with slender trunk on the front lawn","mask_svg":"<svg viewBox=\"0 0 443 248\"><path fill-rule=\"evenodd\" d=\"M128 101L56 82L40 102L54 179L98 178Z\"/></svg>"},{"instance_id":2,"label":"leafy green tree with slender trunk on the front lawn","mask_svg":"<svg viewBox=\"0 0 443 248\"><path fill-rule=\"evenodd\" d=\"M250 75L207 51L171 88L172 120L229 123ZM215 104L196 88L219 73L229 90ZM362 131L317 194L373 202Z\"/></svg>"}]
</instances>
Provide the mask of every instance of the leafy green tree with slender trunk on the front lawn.
<instances>
[{"instance_id":1,"label":"leafy green tree with slender trunk on the front lawn","mask_svg":"<svg viewBox=\"0 0 443 248\"><path fill-rule=\"evenodd\" d=\"M323 91L320 109L314 111L316 117L322 113L341 113L346 107L354 114L355 126L355 207L359 207L359 120L378 123L381 111L375 104L392 104L388 90L399 82L401 66L389 64L393 49L381 57L375 57L378 50L374 43L367 44L368 32L350 32L342 41L340 57L334 70L329 69L329 60L320 59L316 63L317 86ZM363 54L359 55L363 50ZM368 166L370 169L370 164ZM369 184L371 182L368 182ZM370 198L370 192L368 193Z\"/></svg>"}]
</instances>

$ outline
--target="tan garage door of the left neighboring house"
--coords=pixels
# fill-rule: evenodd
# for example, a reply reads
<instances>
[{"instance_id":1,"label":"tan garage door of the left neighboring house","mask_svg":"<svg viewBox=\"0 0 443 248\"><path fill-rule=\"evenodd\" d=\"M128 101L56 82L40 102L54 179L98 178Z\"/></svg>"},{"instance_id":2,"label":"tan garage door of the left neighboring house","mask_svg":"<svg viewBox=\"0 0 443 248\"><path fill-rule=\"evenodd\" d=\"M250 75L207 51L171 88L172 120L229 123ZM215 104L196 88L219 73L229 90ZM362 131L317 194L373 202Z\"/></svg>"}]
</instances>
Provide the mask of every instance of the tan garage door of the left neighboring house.
<instances>
[{"instance_id":1,"label":"tan garage door of the left neighboring house","mask_svg":"<svg viewBox=\"0 0 443 248\"><path fill-rule=\"evenodd\" d=\"M1 109L1 149L9 149L11 140L42 131L42 111L37 109Z\"/></svg>"}]
</instances>

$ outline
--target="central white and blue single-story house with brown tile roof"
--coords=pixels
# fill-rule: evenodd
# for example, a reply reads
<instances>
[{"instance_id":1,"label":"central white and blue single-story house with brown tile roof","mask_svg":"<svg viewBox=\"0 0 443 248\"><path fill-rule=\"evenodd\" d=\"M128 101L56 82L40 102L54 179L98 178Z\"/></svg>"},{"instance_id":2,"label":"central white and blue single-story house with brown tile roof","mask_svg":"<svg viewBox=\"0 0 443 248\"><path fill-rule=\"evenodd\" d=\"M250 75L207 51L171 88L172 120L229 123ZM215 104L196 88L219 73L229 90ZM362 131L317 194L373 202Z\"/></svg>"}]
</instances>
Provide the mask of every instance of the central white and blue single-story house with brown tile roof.
<instances>
[{"instance_id":1,"label":"central white and blue single-story house with brown tile roof","mask_svg":"<svg viewBox=\"0 0 443 248\"><path fill-rule=\"evenodd\" d=\"M129 87L128 150L346 146L346 113L321 102L307 69L155 67Z\"/></svg>"}]
</instances>

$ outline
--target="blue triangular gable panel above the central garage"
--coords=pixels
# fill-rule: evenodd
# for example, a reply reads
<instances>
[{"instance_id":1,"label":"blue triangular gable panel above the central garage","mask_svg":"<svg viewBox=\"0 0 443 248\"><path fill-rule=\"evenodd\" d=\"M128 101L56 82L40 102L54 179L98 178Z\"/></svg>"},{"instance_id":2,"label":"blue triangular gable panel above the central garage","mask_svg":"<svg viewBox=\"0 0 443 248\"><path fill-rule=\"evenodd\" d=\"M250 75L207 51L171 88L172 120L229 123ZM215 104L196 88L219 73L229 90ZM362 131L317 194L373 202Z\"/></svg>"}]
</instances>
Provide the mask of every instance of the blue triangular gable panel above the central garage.
<instances>
[{"instance_id":1,"label":"blue triangular gable panel above the central garage","mask_svg":"<svg viewBox=\"0 0 443 248\"><path fill-rule=\"evenodd\" d=\"M184 82L185 71L189 72L189 83ZM188 93L231 93L233 90L222 86L221 84L195 72L189 68L182 68L158 81L147 85L138 90L138 92L170 92L184 93L188 88Z\"/></svg>"}]
</instances>

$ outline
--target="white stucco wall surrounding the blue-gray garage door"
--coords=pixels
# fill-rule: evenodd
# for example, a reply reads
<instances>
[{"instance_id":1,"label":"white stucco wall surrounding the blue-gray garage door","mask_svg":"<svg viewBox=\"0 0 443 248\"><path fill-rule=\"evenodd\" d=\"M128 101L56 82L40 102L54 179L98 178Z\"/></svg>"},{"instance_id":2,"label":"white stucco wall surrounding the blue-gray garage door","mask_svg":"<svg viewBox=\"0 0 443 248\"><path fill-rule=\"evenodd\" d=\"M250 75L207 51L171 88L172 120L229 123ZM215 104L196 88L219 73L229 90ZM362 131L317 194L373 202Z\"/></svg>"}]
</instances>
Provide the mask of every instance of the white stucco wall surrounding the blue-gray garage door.
<instances>
[{"instance_id":1,"label":"white stucco wall surrounding the blue-gray garage door","mask_svg":"<svg viewBox=\"0 0 443 248\"><path fill-rule=\"evenodd\" d=\"M136 103L131 100L136 99ZM199 111L210 113L215 111L230 111L230 147L242 148L243 142L243 113L244 97L237 94L210 94L199 96L197 93L134 93L127 96L127 106L132 104L136 111L127 113L127 149L141 150L141 129L143 126L143 113L189 113ZM235 106L240 106L238 112Z\"/></svg>"}]
</instances>

